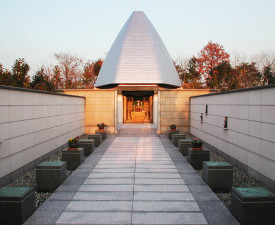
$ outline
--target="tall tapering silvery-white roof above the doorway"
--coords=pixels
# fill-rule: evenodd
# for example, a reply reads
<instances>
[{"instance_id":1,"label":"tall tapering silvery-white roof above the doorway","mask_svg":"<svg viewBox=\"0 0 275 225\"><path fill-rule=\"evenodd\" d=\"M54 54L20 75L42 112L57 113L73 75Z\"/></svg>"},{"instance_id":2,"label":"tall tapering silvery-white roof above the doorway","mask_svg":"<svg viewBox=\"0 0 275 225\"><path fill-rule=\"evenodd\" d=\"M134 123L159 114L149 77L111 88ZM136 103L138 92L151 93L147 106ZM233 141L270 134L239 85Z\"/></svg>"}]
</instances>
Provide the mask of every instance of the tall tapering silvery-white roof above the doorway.
<instances>
[{"instance_id":1,"label":"tall tapering silvery-white roof above the doorway","mask_svg":"<svg viewBox=\"0 0 275 225\"><path fill-rule=\"evenodd\" d=\"M110 84L181 86L167 49L143 12L132 13L102 65L95 86Z\"/></svg>"}]
</instances>

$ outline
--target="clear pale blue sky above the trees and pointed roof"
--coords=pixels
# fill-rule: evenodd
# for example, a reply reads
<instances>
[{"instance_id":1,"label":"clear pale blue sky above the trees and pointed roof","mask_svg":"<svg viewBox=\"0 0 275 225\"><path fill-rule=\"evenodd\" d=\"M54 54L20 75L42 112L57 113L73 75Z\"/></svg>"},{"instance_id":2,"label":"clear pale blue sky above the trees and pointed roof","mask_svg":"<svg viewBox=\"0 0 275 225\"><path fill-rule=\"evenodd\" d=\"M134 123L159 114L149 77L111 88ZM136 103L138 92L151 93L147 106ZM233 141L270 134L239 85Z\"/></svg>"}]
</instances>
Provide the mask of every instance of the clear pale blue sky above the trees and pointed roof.
<instances>
[{"instance_id":1,"label":"clear pale blue sky above the trees and pointed roof","mask_svg":"<svg viewBox=\"0 0 275 225\"><path fill-rule=\"evenodd\" d=\"M275 52L275 0L0 0L0 63L33 75L54 53L105 58L133 11L144 11L174 60L213 41L229 54Z\"/></svg>"}]
</instances>

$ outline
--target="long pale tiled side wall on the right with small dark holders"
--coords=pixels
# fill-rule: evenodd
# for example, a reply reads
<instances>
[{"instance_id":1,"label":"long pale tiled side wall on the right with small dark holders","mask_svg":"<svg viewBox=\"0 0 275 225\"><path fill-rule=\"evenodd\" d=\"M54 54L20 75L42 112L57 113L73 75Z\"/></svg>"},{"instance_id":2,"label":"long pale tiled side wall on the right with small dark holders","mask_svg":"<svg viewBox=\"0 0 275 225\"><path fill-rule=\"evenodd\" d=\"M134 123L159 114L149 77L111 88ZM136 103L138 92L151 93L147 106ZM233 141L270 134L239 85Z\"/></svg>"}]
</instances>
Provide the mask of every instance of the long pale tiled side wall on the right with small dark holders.
<instances>
[{"instance_id":1,"label":"long pale tiled side wall on the right with small dark holders","mask_svg":"<svg viewBox=\"0 0 275 225\"><path fill-rule=\"evenodd\" d=\"M192 97L191 133L275 191L274 96L270 85Z\"/></svg>"}]
</instances>

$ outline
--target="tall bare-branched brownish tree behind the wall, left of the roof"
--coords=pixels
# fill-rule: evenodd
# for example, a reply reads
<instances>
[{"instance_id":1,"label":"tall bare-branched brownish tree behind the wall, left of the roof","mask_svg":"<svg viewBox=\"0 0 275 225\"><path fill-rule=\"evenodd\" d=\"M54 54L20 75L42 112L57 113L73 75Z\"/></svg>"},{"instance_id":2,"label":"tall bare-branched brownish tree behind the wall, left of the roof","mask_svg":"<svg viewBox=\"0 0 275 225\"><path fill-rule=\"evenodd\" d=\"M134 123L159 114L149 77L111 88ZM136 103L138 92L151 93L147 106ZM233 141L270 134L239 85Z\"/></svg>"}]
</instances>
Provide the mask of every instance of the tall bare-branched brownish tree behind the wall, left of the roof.
<instances>
[{"instance_id":1,"label":"tall bare-branched brownish tree behind the wall, left of the roof","mask_svg":"<svg viewBox=\"0 0 275 225\"><path fill-rule=\"evenodd\" d=\"M55 53L54 57L58 61L58 69L61 75L58 79L64 81L64 87L78 88L81 82L83 60L71 53Z\"/></svg>"}]
</instances>

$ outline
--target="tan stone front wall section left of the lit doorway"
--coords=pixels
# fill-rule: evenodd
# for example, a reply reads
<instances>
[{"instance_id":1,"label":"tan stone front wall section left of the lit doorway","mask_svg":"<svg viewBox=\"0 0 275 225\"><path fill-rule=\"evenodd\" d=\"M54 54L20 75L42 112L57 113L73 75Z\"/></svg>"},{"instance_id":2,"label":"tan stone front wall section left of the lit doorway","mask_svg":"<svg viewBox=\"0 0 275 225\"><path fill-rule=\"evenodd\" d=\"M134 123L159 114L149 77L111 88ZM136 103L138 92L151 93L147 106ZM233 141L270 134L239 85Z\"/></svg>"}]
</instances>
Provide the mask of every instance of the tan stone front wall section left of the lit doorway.
<instances>
[{"instance_id":1,"label":"tan stone front wall section left of the lit doorway","mask_svg":"<svg viewBox=\"0 0 275 225\"><path fill-rule=\"evenodd\" d=\"M85 103L85 133L94 134L97 123L104 122L110 133L116 127L116 90L64 90L65 94L84 96Z\"/></svg>"}]
</instances>

